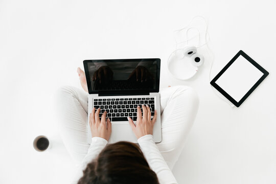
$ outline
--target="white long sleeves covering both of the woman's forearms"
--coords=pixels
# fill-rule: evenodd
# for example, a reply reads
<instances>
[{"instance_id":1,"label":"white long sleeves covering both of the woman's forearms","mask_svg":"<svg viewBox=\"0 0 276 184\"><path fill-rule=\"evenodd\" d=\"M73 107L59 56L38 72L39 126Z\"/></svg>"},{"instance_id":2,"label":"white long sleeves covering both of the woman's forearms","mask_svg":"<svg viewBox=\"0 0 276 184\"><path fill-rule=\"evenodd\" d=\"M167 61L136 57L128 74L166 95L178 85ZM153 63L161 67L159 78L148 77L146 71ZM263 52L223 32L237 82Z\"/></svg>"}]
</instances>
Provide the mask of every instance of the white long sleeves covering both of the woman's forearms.
<instances>
[{"instance_id":1,"label":"white long sleeves covering both of the woman's forearms","mask_svg":"<svg viewBox=\"0 0 276 184\"><path fill-rule=\"evenodd\" d=\"M144 153L147 162L150 168L156 173L158 181L160 184L175 184L176 179L173 176L170 168L165 162L163 156L158 150L157 146L153 141L153 136L148 134L140 137L137 140L142 152ZM87 164L91 162L98 154L102 151L102 149L106 146L107 141L101 137L92 137L92 142L88 149L86 156L83 158L81 166L78 169L78 173L76 175L76 181L82 176L82 171L86 168Z\"/></svg>"}]
</instances>

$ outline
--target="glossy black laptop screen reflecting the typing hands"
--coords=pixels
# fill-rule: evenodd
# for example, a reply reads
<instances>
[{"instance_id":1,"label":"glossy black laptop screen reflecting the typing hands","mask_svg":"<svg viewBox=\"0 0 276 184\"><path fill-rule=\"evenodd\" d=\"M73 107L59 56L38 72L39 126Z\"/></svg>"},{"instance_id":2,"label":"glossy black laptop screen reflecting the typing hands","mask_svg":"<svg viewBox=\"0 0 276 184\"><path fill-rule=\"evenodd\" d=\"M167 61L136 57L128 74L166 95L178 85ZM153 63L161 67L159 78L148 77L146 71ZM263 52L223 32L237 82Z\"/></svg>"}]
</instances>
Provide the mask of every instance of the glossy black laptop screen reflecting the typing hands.
<instances>
[{"instance_id":1,"label":"glossy black laptop screen reflecting the typing hands","mask_svg":"<svg viewBox=\"0 0 276 184\"><path fill-rule=\"evenodd\" d=\"M145 94L159 91L160 59L84 60L89 94Z\"/></svg>"}]
</instances>

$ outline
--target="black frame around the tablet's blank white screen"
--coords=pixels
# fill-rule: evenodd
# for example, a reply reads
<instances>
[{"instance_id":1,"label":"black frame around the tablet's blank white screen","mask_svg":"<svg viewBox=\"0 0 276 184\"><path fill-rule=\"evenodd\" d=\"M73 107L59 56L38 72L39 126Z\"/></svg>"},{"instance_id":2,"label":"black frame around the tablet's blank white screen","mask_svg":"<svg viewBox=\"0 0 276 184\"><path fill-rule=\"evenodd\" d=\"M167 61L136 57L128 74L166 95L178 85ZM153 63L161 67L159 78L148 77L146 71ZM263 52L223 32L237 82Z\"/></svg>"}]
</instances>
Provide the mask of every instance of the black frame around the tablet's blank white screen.
<instances>
[{"instance_id":1,"label":"black frame around the tablet's blank white screen","mask_svg":"<svg viewBox=\"0 0 276 184\"><path fill-rule=\"evenodd\" d=\"M232 98L229 94L226 93L217 83L216 81L220 78L220 76L228 69L231 64L233 64L239 56L243 56L247 61L257 67L262 73L263 76L247 91L247 93L242 97L242 99L237 102L234 98ZM247 97L261 84L261 82L268 76L268 72L260 66L256 61L250 58L247 54L245 54L242 50L240 50L234 57L229 61L226 66L222 68L222 70L218 73L218 75L210 82L212 86L214 86L224 97L226 97L229 101L231 101L236 107L239 107Z\"/></svg>"}]
</instances>

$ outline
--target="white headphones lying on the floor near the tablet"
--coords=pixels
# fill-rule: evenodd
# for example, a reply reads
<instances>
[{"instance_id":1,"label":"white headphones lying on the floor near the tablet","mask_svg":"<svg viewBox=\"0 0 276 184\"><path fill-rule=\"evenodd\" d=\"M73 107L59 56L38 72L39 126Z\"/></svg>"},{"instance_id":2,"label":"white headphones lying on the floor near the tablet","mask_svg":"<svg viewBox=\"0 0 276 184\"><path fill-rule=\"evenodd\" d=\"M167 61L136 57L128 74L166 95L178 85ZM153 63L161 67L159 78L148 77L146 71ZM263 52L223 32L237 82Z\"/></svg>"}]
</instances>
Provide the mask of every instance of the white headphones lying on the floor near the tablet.
<instances>
[{"instance_id":1,"label":"white headphones lying on the floor near the tablet","mask_svg":"<svg viewBox=\"0 0 276 184\"><path fill-rule=\"evenodd\" d=\"M170 70L170 64L173 57L177 57L176 54L179 53L183 55L182 57L178 57L176 59L183 60L184 57L189 57L190 66L188 70L183 69L183 73L181 74L181 77L177 77L171 70ZM185 61L183 61L185 62ZM187 62L187 61L186 61ZM197 53L196 47L185 47L182 49L177 49L169 56L168 59L168 70L169 72L177 79L180 80L188 80L195 76L195 74L198 72L199 67L204 63L204 57L201 54ZM188 64L188 63L187 63Z\"/></svg>"}]
</instances>

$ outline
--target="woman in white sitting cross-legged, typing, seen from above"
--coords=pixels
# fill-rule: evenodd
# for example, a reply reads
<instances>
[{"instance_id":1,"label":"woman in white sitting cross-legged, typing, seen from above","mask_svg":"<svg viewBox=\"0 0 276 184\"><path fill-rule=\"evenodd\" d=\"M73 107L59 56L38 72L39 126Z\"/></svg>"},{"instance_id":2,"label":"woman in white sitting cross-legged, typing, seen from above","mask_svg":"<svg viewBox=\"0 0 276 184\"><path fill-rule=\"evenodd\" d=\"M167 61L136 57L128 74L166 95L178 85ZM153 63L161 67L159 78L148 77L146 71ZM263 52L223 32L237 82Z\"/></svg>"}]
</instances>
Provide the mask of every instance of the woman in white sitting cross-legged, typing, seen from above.
<instances>
[{"instance_id":1,"label":"woman in white sitting cross-legged, typing, seen from above","mask_svg":"<svg viewBox=\"0 0 276 184\"><path fill-rule=\"evenodd\" d=\"M78 68L83 89L87 92L84 72ZM74 183L177 183L171 169L176 163L198 109L195 91L187 86L173 86L160 90L162 142L155 144L152 130L154 118L147 116L148 107L137 107L137 121L129 124L140 148L132 143L109 144L111 122L106 112L99 118L87 112L88 94L75 87L62 87L56 94L57 115L65 147L78 165ZM89 116L90 130L87 125ZM91 131L91 137L87 132ZM83 171L83 172L82 172ZM79 180L79 181L78 181Z\"/></svg>"}]
</instances>

